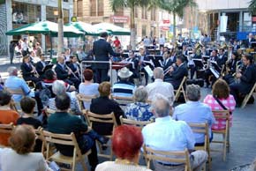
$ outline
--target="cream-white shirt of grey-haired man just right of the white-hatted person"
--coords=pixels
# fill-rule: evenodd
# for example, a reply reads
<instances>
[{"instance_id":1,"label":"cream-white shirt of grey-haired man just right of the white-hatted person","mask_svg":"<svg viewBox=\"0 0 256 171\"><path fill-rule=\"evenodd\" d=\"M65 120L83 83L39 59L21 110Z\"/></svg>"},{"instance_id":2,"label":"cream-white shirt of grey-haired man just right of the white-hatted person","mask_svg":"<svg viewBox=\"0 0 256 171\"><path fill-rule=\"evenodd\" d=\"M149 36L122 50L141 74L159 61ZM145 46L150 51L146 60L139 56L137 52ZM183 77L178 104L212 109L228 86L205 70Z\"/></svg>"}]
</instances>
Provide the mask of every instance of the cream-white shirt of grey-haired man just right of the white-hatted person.
<instances>
[{"instance_id":1,"label":"cream-white shirt of grey-haired man just right of the white-hatted person","mask_svg":"<svg viewBox=\"0 0 256 171\"><path fill-rule=\"evenodd\" d=\"M146 86L148 100L153 100L156 93L161 93L169 99L169 104L172 106L174 100L173 86L170 83L163 82L162 79L155 79L154 83Z\"/></svg>"}]
</instances>

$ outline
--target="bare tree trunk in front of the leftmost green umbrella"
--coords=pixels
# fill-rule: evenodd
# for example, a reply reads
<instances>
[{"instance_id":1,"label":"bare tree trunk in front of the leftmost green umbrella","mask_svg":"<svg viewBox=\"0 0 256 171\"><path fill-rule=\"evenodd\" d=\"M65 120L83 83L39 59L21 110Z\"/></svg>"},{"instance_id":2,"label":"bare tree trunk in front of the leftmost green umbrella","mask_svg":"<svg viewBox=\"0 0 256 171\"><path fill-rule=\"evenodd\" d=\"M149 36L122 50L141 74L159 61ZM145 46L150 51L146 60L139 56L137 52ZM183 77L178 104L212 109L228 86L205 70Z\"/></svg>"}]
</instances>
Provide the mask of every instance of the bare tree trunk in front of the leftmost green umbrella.
<instances>
[{"instance_id":1,"label":"bare tree trunk in front of the leftmost green umbrella","mask_svg":"<svg viewBox=\"0 0 256 171\"><path fill-rule=\"evenodd\" d=\"M63 10L62 0L58 0L58 32L57 32L57 56L60 56L64 48L64 21L63 21Z\"/></svg>"}]
</instances>

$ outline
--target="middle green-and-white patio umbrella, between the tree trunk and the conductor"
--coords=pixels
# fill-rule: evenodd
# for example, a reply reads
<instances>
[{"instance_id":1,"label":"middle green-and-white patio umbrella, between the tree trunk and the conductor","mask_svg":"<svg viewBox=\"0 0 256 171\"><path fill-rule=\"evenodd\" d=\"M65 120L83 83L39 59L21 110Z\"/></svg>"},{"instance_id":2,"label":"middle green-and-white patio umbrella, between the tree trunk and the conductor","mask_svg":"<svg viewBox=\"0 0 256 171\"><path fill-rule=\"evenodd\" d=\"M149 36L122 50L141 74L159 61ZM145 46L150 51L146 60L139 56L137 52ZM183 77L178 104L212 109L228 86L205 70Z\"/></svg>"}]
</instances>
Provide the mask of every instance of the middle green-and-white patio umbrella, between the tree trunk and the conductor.
<instances>
[{"instance_id":1,"label":"middle green-and-white patio umbrella, between the tree trunk and the conductor","mask_svg":"<svg viewBox=\"0 0 256 171\"><path fill-rule=\"evenodd\" d=\"M80 32L85 33L85 35L97 35L96 30L94 30L92 25L81 22L81 21L72 22L72 23L66 24L65 26L74 26Z\"/></svg>"}]
</instances>

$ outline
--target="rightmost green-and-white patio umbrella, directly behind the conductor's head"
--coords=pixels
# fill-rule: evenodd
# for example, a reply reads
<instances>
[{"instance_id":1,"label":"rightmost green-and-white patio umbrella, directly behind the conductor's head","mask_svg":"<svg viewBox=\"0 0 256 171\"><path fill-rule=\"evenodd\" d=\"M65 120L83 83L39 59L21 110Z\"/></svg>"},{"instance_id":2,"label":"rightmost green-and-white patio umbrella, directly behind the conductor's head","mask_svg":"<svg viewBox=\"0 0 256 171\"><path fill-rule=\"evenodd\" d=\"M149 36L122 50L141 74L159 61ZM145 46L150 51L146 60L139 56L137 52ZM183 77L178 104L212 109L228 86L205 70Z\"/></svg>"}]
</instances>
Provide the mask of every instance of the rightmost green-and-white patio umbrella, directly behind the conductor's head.
<instances>
[{"instance_id":1,"label":"rightmost green-and-white patio umbrella, directly behind the conductor's head","mask_svg":"<svg viewBox=\"0 0 256 171\"><path fill-rule=\"evenodd\" d=\"M130 35L131 31L129 29L123 28L121 26L115 26L110 23L100 23L93 26L97 33L102 33L107 31L113 35Z\"/></svg>"}]
</instances>

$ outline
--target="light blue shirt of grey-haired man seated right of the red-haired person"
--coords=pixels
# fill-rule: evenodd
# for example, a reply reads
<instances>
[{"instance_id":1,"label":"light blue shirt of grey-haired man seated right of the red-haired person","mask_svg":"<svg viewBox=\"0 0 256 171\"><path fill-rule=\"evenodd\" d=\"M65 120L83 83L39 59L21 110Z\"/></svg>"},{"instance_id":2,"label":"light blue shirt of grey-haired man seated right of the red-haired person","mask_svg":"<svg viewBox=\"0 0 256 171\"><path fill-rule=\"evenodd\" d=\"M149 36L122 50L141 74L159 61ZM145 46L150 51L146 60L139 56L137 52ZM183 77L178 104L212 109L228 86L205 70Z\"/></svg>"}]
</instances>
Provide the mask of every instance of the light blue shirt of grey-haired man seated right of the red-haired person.
<instances>
[{"instance_id":1,"label":"light blue shirt of grey-haired man seated right of the red-haired person","mask_svg":"<svg viewBox=\"0 0 256 171\"><path fill-rule=\"evenodd\" d=\"M142 129L144 144L159 151L194 149L195 138L184 121L175 121L169 115L158 117Z\"/></svg>"}]
</instances>

